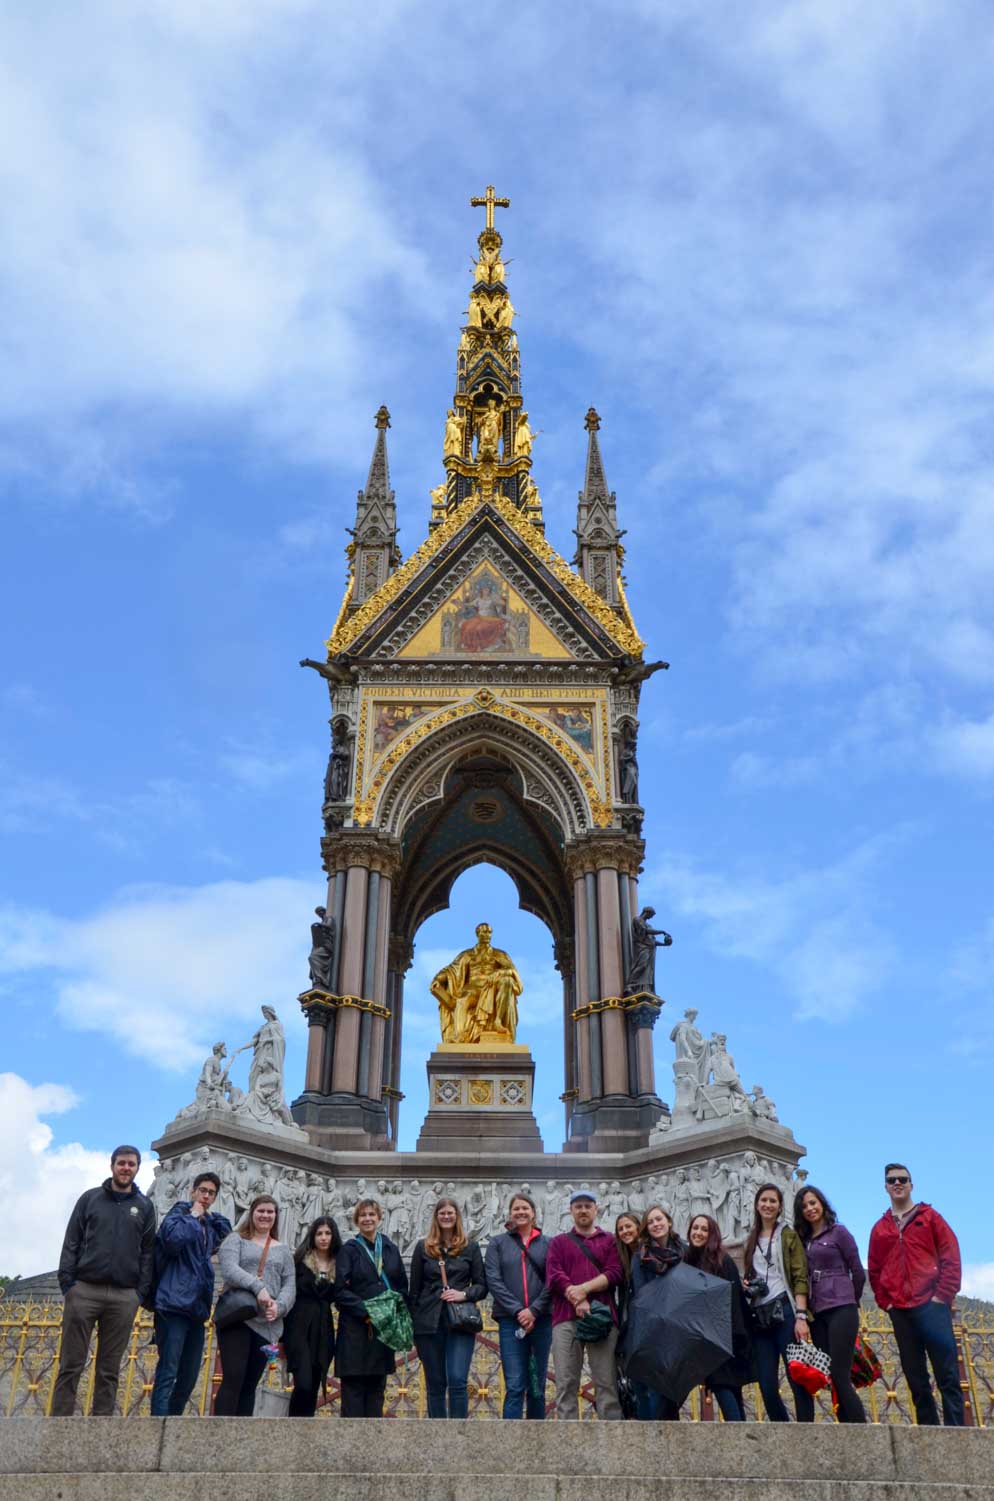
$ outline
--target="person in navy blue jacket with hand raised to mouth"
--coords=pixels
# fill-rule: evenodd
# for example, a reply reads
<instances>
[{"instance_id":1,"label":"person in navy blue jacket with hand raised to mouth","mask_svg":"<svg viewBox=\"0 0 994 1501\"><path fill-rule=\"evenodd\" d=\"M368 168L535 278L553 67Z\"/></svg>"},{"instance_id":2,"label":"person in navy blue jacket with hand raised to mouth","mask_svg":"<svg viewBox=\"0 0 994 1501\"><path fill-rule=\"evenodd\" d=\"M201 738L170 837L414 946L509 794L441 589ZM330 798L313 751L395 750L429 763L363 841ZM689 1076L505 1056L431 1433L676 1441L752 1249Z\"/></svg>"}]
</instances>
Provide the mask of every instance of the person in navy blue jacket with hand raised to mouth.
<instances>
[{"instance_id":1,"label":"person in navy blue jacket with hand raised to mouth","mask_svg":"<svg viewBox=\"0 0 994 1501\"><path fill-rule=\"evenodd\" d=\"M231 1225L210 1207L218 1198L216 1172L198 1172L192 1199L174 1204L155 1238L155 1343L159 1361L152 1387L152 1417L186 1411L204 1354L204 1324L215 1292L212 1256Z\"/></svg>"}]
</instances>

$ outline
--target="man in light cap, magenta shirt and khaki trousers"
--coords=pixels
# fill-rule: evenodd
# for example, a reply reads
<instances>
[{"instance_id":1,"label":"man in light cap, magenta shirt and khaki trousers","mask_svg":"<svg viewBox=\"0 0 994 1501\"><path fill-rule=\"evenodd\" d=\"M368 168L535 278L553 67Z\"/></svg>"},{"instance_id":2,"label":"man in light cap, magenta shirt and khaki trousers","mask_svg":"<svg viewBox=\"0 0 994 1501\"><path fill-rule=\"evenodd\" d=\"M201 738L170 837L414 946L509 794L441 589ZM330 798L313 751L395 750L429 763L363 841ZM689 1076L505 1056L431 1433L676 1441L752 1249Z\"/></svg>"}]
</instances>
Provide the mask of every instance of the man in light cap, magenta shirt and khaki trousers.
<instances>
[{"instance_id":1,"label":"man in light cap, magenta shirt and khaki trousers","mask_svg":"<svg viewBox=\"0 0 994 1501\"><path fill-rule=\"evenodd\" d=\"M545 1261L545 1280L553 1294L553 1366L556 1369L556 1415L580 1417L580 1379L587 1352L599 1418L620 1418L617 1399L617 1312L611 1288L625 1274L614 1235L596 1225L598 1201L590 1189L577 1189L569 1201L574 1228L554 1235ZM607 1306L611 1327L602 1339L577 1336L577 1321L590 1315L592 1303Z\"/></svg>"}]
</instances>

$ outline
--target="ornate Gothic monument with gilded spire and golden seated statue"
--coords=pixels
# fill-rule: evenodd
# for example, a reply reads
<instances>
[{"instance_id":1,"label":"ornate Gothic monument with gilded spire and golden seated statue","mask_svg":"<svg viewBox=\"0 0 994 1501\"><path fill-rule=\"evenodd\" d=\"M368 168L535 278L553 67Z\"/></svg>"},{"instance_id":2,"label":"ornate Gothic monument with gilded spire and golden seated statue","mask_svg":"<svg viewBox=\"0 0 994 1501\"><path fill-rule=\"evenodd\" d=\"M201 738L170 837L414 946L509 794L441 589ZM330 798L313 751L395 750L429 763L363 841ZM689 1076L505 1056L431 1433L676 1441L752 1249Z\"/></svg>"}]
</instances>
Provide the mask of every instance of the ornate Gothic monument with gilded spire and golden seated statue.
<instances>
[{"instance_id":1,"label":"ornate Gothic monument with gilded spire and golden seated statue","mask_svg":"<svg viewBox=\"0 0 994 1501\"><path fill-rule=\"evenodd\" d=\"M206 1162L222 1178L225 1211L240 1213L264 1186L291 1226L320 1211L344 1222L369 1192L410 1250L443 1190L486 1238L503 1226L512 1189L529 1184L556 1231L569 1220L571 1189L593 1181L605 1217L661 1198L685 1228L692 1207L710 1205L742 1238L755 1186L772 1178L790 1189L803 1148L763 1087L746 1091L725 1033L698 1030L694 1006L664 1028L673 1109L658 1090L658 971L673 940L640 899L638 713L644 684L667 663L646 660L628 605L593 407L572 561L545 534L533 473L541 429L524 407L495 224L509 203L492 186L471 201L485 219L453 395L438 416L438 468L425 476L426 534L401 557L390 414L380 407L344 597L324 654L302 663L330 699L327 898L299 995L305 1078L287 1105L272 1007L246 1045L246 1090L231 1084L219 1043L195 1099L156 1142L156 1199L167 1208ZM410 503L407 516L410 525ZM518 1042L527 991L480 922L431 983L429 1108L416 1150L399 1151L414 943L477 862L505 871L550 932L563 997L562 1145L542 1142L533 1115L536 1064ZM302 979L303 967L302 944ZM719 1027L728 1007L709 1000L707 1012Z\"/></svg>"}]
</instances>

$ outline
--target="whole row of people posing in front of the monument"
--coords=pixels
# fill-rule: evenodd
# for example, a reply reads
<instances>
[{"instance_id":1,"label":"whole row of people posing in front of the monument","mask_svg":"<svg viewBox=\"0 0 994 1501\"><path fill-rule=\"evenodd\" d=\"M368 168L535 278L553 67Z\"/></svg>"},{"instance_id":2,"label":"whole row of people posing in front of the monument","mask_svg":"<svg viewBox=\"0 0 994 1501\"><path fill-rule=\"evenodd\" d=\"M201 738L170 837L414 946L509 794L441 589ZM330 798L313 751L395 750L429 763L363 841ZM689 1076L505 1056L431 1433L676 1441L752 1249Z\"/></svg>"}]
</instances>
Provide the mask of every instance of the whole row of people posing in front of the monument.
<instances>
[{"instance_id":1,"label":"whole row of people posing in front of the monument","mask_svg":"<svg viewBox=\"0 0 994 1501\"><path fill-rule=\"evenodd\" d=\"M766 1415L790 1420L779 1394L781 1363L797 1421L812 1421L814 1399L787 1366L788 1345L808 1342L829 1357L838 1420L866 1421L851 1381L866 1271L853 1235L812 1186L797 1192L793 1225L782 1190L773 1183L757 1189L742 1274L710 1214L694 1214L680 1237L668 1208L653 1204L641 1216L619 1214L610 1231L598 1225L592 1189L571 1196L572 1228L551 1237L542 1232L532 1196L515 1193L505 1231L489 1238L485 1252L467 1237L455 1199L443 1196L408 1273L383 1232L374 1198L354 1205L347 1241L333 1219L320 1216L293 1250L279 1238L279 1207L267 1193L233 1229L213 1208L221 1181L210 1171L197 1175L191 1199L176 1204L156 1231L155 1208L135 1184L140 1165L137 1148L116 1148L110 1178L72 1211L59 1264L65 1310L54 1415L74 1411L95 1325L92 1411L114 1411L140 1306L155 1313L152 1414L185 1412L201 1367L216 1258L222 1300L230 1304L224 1318L221 1303L215 1309L222 1366L218 1415L254 1411L260 1378L282 1346L293 1376L291 1415L314 1415L333 1363L342 1417L380 1417L396 1345L380 1337L369 1304L390 1292L410 1312L429 1417L468 1414L479 1304L489 1297L505 1375L503 1417L545 1417L551 1352L559 1418L580 1415L586 1360L599 1418L674 1420L674 1400L626 1379L625 1334L640 1291L686 1262L731 1283L731 1352L707 1376L725 1421L745 1421L742 1391L752 1381ZM931 1361L943 1421L962 1426L950 1313L959 1291L956 1237L931 1205L914 1202L905 1166L887 1163L884 1186L890 1202L869 1237L869 1283L890 1316L917 1421L940 1420ZM622 1396L631 1397L631 1412L623 1411Z\"/></svg>"}]
</instances>

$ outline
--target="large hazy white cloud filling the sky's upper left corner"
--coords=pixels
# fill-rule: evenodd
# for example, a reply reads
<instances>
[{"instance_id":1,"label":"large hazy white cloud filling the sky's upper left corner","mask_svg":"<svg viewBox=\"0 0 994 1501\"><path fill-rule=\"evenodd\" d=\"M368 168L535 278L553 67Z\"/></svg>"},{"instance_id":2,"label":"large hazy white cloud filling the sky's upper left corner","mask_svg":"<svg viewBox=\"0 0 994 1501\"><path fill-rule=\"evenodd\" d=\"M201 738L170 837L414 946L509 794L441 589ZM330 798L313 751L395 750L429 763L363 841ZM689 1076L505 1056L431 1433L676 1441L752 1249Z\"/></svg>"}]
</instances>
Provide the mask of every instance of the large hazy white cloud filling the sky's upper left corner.
<instances>
[{"instance_id":1,"label":"large hazy white cloud filling the sky's upper left corner","mask_svg":"<svg viewBox=\"0 0 994 1501\"><path fill-rule=\"evenodd\" d=\"M131 474L143 441L237 416L327 456L335 422L368 416L359 329L384 279L398 309L432 308L353 140L351 29L336 18L323 47L312 0L243 24L183 9L8 12L0 66L6 468L54 462L65 489L150 516L168 495ZM285 116L288 62L306 48L311 66L315 44L323 83Z\"/></svg>"}]
</instances>

